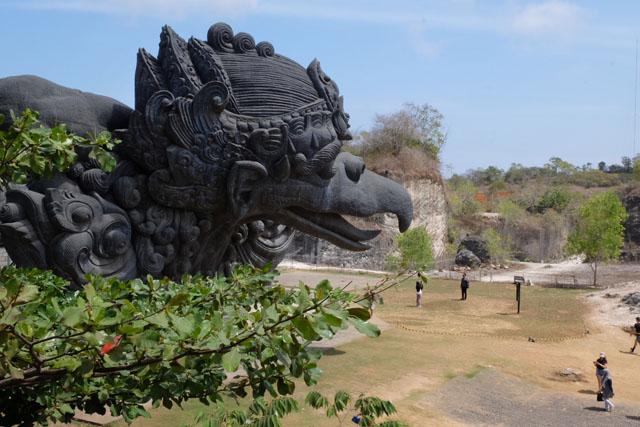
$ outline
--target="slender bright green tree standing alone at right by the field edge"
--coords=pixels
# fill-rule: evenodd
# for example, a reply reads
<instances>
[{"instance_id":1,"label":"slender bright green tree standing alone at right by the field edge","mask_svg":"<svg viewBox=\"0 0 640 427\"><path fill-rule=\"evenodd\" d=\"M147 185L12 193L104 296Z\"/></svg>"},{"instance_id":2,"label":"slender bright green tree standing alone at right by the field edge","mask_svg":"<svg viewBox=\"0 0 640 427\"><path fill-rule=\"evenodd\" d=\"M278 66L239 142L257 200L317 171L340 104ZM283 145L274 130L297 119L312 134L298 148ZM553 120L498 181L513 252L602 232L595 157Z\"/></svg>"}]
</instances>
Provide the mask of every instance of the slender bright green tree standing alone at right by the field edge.
<instances>
[{"instance_id":1,"label":"slender bright green tree standing alone at right by the field edge","mask_svg":"<svg viewBox=\"0 0 640 427\"><path fill-rule=\"evenodd\" d=\"M584 254L597 284L598 264L615 260L624 244L627 211L615 193L607 191L590 197L578 212L575 229L569 234L569 254Z\"/></svg>"}]
</instances>

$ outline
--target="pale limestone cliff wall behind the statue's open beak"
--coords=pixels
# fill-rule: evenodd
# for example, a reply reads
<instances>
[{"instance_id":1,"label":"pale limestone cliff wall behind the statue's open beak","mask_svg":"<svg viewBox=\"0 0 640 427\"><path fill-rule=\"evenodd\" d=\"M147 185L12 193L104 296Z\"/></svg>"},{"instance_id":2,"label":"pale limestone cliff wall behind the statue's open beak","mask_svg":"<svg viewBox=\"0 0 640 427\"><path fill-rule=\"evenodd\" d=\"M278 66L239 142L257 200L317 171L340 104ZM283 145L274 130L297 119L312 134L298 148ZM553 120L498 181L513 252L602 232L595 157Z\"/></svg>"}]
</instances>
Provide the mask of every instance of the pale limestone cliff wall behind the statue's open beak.
<instances>
[{"instance_id":1,"label":"pale limestone cliff wall behind the statue's open beak","mask_svg":"<svg viewBox=\"0 0 640 427\"><path fill-rule=\"evenodd\" d=\"M412 227L425 226L433 241L434 255L444 256L447 238L447 202L442 183L429 179L406 181L405 188L413 200ZM364 252L340 249L324 240L298 233L286 259L308 264L346 268L382 270L385 257L394 250L393 238L398 233L398 223L390 214L371 218L348 218L359 228L380 229L382 232L370 241L372 248Z\"/></svg>"}]
</instances>

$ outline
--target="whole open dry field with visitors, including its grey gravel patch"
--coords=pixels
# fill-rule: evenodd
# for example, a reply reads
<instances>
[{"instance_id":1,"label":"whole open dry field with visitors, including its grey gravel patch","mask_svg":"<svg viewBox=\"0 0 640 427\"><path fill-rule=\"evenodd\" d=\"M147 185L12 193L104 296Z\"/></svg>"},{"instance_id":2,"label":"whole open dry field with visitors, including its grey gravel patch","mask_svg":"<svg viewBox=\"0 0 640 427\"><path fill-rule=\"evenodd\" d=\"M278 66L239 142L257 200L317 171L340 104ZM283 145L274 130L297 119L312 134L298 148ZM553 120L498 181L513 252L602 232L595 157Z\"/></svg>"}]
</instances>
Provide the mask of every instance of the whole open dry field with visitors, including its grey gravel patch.
<instances>
[{"instance_id":1,"label":"whole open dry field with visitors, including its grey gravel patch","mask_svg":"<svg viewBox=\"0 0 640 427\"><path fill-rule=\"evenodd\" d=\"M312 283L316 275L331 278L333 273L288 274L285 283ZM343 276L336 276L336 284L346 280ZM375 280L357 278L358 285ZM357 338L326 350L318 390L390 399L399 411L395 418L414 426L512 425L523 419L530 419L529 425L637 423L640 357L625 353L630 337L619 328L599 325L584 291L523 287L519 315L514 294L512 285L473 283L462 302L457 282L432 280L418 309L413 282L407 281L388 291L385 304L376 309L376 317L388 326L379 338ZM593 395L591 361L601 351L607 353L615 381L614 415L600 412ZM564 368L581 371L582 378L558 375ZM299 387L298 397L307 391ZM202 410L206 407L197 402L183 410L157 409L151 419L133 425L189 425ZM538 415L526 418L532 412ZM351 424L352 414L347 415L343 425ZM309 408L284 424L339 425Z\"/></svg>"}]
</instances>

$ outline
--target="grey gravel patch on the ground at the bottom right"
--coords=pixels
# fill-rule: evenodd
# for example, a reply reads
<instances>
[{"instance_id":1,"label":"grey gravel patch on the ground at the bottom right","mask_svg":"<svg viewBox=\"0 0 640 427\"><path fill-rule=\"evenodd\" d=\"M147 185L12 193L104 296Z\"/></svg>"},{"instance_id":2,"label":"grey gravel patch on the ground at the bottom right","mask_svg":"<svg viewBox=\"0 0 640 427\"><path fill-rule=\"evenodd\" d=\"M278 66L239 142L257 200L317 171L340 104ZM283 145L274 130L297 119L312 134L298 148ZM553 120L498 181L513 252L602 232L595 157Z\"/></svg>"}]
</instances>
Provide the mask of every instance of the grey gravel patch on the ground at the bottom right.
<instances>
[{"instance_id":1,"label":"grey gravel patch on the ground at the bottom right","mask_svg":"<svg viewBox=\"0 0 640 427\"><path fill-rule=\"evenodd\" d=\"M637 426L640 408L616 404L604 412L591 390L583 394L550 393L530 383L486 369L472 378L455 378L420 404L438 408L470 425ZM614 398L615 403L615 398Z\"/></svg>"}]
</instances>

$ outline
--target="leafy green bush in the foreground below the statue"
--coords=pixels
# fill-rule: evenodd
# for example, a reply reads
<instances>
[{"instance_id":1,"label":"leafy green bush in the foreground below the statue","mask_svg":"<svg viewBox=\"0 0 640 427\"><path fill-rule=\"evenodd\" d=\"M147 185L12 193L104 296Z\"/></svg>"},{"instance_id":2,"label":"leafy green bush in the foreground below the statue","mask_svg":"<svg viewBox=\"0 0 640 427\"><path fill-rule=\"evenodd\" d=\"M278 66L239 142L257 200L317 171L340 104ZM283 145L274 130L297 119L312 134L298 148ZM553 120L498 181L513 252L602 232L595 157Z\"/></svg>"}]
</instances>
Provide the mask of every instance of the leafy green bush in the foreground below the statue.
<instances>
[{"instance_id":1,"label":"leafy green bush in the foreground below the statue","mask_svg":"<svg viewBox=\"0 0 640 427\"><path fill-rule=\"evenodd\" d=\"M171 408L199 399L214 404L200 421L279 425L298 407L294 380L313 385L320 376L321 354L308 344L348 325L378 336L370 302L396 282L360 296L328 281L287 290L267 269L240 267L179 283L90 277L72 292L51 272L7 267L0 283L0 424L68 422L77 409L105 407L130 422L149 416L149 401ZM246 411L221 404L249 393ZM363 398L360 425L395 411ZM345 408L334 409L328 415Z\"/></svg>"}]
</instances>

